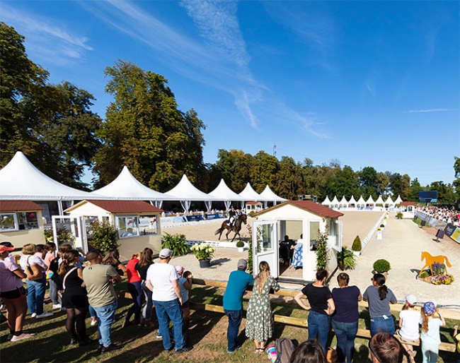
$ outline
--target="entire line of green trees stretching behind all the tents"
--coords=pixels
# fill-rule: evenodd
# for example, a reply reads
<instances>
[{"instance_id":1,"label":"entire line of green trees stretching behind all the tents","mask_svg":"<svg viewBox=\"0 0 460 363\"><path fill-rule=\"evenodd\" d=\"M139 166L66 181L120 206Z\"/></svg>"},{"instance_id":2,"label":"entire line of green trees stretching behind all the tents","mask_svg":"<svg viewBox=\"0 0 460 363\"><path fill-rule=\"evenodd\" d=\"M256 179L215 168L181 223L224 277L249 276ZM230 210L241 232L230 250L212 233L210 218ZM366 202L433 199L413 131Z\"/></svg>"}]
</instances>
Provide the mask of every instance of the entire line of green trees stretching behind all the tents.
<instances>
[{"instance_id":1,"label":"entire line of green trees stretching behind all the tents","mask_svg":"<svg viewBox=\"0 0 460 363\"><path fill-rule=\"evenodd\" d=\"M219 150L217 162L205 164L204 122L195 110L178 108L163 76L118 60L105 69L105 92L113 96L105 119L91 111L96 101L87 90L63 81L50 83L50 73L28 58L24 37L0 23L0 167L17 150L52 179L88 190L85 168L96 178L94 188L115 179L126 165L139 182L156 191L175 186L182 174L205 192L221 178L237 193L250 182L258 193L268 184L279 196L297 199L314 194L374 200L400 195L417 201L418 192L437 190L439 202L453 204L460 196L460 160L455 157L453 184L421 186L408 174L377 172L368 166L355 171L340 161L314 165L305 157L277 157L259 151Z\"/></svg>"}]
</instances>

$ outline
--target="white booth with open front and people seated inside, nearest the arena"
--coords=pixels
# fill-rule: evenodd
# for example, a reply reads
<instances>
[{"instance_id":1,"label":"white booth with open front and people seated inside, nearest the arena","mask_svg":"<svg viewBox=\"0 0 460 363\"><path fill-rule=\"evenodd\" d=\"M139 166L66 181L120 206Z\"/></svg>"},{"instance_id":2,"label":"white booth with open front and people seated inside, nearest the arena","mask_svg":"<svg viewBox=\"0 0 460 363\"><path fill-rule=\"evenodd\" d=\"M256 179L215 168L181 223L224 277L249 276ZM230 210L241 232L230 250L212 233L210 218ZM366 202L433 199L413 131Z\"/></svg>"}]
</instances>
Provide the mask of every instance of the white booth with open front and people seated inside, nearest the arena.
<instances>
[{"instance_id":1,"label":"white booth with open front and people seated inside, nearest the arena","mask_svg":"<svg viewBox=\"0 0 460 363\"><path fill-rule=\"evenodd\" d=\"M321 206L312 201L287 201L272 208L256 213L253 222L253 264L254 273L258 273L260 261L270 265L270 272L275 278L292 282L312 281L316 275L316 251L318 230L328 232L329 273L337 267L336 251L342 249L342 222L338 220L343 213ZM303 268L296 278L284 278L280 266L279 242L289 235L297 237L297 244L302 244ZM293 269L287 269L289 271Z\"/></svg>"}]
</instances>

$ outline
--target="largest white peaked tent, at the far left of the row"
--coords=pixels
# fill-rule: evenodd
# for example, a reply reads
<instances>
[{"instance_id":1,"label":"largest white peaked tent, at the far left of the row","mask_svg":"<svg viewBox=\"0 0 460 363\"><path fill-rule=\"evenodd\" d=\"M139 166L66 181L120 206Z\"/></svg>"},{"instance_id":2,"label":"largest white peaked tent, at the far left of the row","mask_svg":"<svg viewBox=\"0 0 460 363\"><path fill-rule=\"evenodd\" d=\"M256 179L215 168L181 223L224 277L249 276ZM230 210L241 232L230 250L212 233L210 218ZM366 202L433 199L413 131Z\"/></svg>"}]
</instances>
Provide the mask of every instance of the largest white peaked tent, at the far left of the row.
<instances>
[{"instance_id":1,"label":"largest white peaked tent, at the far left of the row","mask_svg":"<svg viewBox=\"0 0 460 363\"><path fill-rule=\"evenodd\" d=\"M100 199L101 196L65 186L47 177L21 151L0 170L0 201L57 201L62 214L62 201L88 198Z\"/></svg>"}]
</instances>

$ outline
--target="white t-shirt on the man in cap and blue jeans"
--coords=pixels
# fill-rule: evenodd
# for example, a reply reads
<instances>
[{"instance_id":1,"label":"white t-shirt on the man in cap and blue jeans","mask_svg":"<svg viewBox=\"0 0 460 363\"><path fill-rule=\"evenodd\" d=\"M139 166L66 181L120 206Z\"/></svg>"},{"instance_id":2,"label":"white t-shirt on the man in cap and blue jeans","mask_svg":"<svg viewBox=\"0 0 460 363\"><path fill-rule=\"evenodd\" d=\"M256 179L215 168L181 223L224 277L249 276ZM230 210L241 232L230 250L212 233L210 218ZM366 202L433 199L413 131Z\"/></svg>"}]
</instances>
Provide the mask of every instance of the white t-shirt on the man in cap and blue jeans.
<instances>
[{"instance_id":1,"label":"white t-shirt on the man in cap and blue jeans","mask_svg":"<svg viewBox=\"0 0 460 363\"><path fill-rule=\"evenodd\" d=\"M176 267L168 263L152 263L147 270L146 278L146 280L150 280L151 285L154 287L151 299L159 302L169 302L177 299L178 296L171 281L178 279Z\"/></svg>"}]
</instances>

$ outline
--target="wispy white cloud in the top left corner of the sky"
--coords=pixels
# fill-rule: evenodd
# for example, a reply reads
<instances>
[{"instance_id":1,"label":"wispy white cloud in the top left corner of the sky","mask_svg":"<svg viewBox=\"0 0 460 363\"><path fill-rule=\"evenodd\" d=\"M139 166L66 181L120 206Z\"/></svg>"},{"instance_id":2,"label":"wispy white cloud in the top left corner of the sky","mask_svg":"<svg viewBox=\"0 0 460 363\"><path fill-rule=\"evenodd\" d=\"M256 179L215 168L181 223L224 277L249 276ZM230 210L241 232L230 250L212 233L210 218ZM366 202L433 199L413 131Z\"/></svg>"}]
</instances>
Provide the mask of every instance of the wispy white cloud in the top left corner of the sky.
<instances>
[{"instance_id":1,"label":"wispy white cloud in the top left corner of the sky","mask_svg":"<svg viewBox=\"0 0 460 363\"><path fill-rule=\"evenodd\" d=\"M2 21L13 25L25 36L29 52L52 64L69 64L84 59L93 47L88 37L59 25L55 19L42 18L36 14L18 11L4 2L1 4Z\"/></svg>"}]
</instances>

